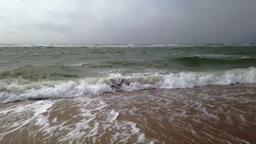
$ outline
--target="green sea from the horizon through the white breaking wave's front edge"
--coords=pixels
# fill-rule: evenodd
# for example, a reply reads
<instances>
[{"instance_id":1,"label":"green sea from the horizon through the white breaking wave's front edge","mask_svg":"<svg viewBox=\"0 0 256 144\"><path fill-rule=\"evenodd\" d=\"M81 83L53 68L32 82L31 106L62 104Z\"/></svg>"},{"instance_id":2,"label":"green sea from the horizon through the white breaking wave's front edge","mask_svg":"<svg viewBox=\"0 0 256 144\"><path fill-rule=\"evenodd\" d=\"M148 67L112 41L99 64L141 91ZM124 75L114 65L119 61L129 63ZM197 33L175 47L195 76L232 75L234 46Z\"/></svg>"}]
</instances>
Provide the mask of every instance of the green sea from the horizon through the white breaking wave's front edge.
<instances>
[{"instance_id":1,"label":"green sea from the horizon through the white breaking wave's front edge","mask_svg":"<svg viewBox=\"0 0 256 144\"><path fill-rule=\"evenodd\" d=\"M0 102L256 83L255 66L256 44L0 45Z\"/></svg>"}]
</instances>

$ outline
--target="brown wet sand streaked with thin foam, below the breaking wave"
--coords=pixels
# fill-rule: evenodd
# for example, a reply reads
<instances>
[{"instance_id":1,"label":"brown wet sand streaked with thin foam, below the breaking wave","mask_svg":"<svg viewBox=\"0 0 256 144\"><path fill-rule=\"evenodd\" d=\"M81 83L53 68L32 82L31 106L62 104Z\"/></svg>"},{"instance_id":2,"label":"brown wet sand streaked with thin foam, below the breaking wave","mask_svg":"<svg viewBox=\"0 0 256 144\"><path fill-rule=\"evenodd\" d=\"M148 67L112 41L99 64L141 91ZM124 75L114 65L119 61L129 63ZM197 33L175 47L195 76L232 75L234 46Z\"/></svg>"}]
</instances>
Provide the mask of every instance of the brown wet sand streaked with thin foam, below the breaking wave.
<instances>
[{"instance_id":1,"label":"brown wet sand streaked with thin foam, below the breaking wave","mask_svg":"<svg viewBox=\"0 0 256 144\"><path fill-rule=\"evenodd\" d=\"M256 85L0 104L0 143L256 143Z\"/></svg>"}]
</instances>

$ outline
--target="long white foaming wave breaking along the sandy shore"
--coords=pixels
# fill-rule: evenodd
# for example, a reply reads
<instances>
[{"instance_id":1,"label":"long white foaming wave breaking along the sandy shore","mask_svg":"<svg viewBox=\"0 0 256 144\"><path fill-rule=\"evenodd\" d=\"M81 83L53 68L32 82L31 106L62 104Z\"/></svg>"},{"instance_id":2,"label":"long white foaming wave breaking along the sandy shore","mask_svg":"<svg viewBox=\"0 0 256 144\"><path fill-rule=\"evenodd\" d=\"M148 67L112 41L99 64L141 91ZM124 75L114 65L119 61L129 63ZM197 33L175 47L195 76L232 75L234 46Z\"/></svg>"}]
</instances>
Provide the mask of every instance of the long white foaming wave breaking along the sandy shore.
<instances>
[{"instance_id":1,"label":"long white foaming wave breaking along the sandy shore","mask_svg":"<svg viewBox=\"0 0 256 144\"><path fill-rule=\"evenodd\" d=\"M90 80L94 79L94 80ZM170 74L134 74L123 76L109 74L104 78L84 78L69 82L46 81L26 84L0 83L0 103L27 99L69 98L103 94L116 91L138 91L143 89L193 88L209 85L256 83L256 68L205 72L177 72Z\"/></svg>"}]
</instances>

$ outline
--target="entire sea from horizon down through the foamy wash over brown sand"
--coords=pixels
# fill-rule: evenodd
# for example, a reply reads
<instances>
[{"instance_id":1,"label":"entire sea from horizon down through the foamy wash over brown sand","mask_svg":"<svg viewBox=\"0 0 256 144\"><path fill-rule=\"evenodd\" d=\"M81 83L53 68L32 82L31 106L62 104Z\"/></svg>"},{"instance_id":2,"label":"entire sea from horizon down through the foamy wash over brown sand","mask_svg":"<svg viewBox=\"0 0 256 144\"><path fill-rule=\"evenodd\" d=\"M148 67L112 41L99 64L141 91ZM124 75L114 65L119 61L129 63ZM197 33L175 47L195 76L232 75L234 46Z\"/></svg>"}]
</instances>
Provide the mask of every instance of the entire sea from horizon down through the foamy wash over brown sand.
<instances>
[{"instance_id":1,"label":"entire sea from horizon down through the foamy wash over brown sand","mask_svg":"<svg viewBox=\"0 0 256 144\"><path fill-rule=\"evenodd\" d=\"M256 144L256 44L0 45L0 143Z\"/></svg>"}]
</instances>

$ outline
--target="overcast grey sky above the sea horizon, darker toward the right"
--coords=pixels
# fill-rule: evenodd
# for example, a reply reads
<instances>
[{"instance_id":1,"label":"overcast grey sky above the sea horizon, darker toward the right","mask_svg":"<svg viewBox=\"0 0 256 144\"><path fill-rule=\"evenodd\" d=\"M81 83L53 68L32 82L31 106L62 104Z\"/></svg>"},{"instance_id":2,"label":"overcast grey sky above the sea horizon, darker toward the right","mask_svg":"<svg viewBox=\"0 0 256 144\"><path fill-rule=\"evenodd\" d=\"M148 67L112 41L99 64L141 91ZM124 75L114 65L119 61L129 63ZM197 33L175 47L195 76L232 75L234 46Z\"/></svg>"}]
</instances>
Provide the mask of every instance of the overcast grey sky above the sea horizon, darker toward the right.
<instances>
[{"instance_id":1,"label":"overcast grey sky above the sea horizon, darker toward the right","mask_svg":"<svg viewBox=\"0 0 256 144\"><path fill-rule=\"evenodd\" d=\"M256 0L0 0L0 44L256 43Z\"/></svg>"}]
</instances>

